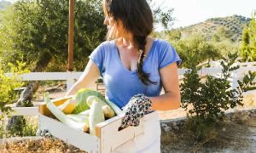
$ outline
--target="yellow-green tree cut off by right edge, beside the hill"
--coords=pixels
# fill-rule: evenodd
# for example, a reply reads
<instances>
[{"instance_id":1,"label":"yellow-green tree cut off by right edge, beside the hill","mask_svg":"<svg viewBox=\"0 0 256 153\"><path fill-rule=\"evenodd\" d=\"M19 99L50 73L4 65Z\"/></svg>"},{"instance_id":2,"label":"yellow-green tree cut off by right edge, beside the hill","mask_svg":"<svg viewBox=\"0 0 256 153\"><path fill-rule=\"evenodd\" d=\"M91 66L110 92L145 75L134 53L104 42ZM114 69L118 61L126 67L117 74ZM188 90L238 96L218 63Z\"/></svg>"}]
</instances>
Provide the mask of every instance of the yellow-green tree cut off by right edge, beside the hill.
<instances>
[{"instance_id":1,"label":"yellow-green tree cut off by right edge, beside the hill","mask_svg":"<svg viewBox=\"0 0 256 153\"><path fill-rule=\"evenodd\" d=\"M256 11L242 33L241 56L244 61L256 61Z\"/></svg>"}]
</instances>

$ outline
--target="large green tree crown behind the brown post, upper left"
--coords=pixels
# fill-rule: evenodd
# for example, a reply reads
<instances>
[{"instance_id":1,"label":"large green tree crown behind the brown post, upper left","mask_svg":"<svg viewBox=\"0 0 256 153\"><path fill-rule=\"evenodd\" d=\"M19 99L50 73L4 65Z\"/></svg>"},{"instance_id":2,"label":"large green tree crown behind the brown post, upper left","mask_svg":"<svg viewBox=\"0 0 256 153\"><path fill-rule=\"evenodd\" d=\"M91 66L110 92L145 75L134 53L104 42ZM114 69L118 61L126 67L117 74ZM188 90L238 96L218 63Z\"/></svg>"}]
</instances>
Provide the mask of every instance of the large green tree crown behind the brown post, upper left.
<instances>
[{"instance_id":1,"label":"large green tree crown behind the brown post, upper left","mask_svg":"<svg viewBox=\"0 0 256 153\"><path fill-rule=\"evenodd\" d=\"M75 5L74 61L76 69L82 70L87 56L104 40L106 28L102 24L101 0L79 0ZM20 0L5 12L0 32L0 41L7 43L0 48L5 62L20 59L33 65L46 52L56 63L52 69L65 70L68 1Z\"/></svg>"}]
</instances>

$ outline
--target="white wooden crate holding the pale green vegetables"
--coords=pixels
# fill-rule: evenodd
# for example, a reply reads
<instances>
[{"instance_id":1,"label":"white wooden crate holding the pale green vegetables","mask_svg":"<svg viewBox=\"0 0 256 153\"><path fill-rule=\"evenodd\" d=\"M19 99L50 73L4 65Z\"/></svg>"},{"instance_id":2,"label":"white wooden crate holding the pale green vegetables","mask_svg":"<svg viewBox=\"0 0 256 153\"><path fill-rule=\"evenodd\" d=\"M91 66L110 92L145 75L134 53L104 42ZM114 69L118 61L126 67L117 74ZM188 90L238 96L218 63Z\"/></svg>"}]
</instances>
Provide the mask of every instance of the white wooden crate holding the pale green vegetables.
<instances>
[{"instance_id":1,"label":"white wooden crate holding the pale green vegetables","mask_svg":"<svg viewBox=\"0 0 256 153\"><path fill-rule=\"evenodd\" d=\"M61 105L67 99L57 99L55 105ZM144 122L157 115L156 112L144 116L138 127L126 127L119 131L122 116L114 116L105 122L96 125L96 136L89 133L67 127L65 124L53 118L46 105L39 106L39 127L41 130L47 129L49 133L67 144L73 144L81 150L87 152L108 153L116 149L119 145L133 139L137 135L144 133Z\"/></svg>"}]
</instances>

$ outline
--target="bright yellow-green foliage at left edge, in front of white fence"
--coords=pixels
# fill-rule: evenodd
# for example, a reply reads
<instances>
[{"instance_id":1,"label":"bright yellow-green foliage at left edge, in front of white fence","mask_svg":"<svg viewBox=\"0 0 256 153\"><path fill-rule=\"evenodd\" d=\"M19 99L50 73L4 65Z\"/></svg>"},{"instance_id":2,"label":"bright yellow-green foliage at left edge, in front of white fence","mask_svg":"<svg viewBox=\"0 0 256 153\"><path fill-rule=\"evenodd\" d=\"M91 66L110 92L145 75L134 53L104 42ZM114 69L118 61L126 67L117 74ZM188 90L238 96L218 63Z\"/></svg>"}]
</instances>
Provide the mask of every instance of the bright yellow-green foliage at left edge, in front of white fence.
<instances>
[{"instance_id":1,"label":"bright yellow-green foliage at left edge, in front of white fence","mask_svg":"<svg viewBox=\"0 0 256 153\"><path fill-rule=\"evenodd\" d=\"M18 95L15 92L15 88L20 88L24 84L24 82L20 82L20 75L29 72L24 69L25 63L17 62L17 65L8 64L9 73L13 74L12 76L4 75L3 65L0 65L0 111L3 112L3 115L9 115L11 108L7 105L14 103L15 99L17 99Z\"/></svg>"}]
</instances>

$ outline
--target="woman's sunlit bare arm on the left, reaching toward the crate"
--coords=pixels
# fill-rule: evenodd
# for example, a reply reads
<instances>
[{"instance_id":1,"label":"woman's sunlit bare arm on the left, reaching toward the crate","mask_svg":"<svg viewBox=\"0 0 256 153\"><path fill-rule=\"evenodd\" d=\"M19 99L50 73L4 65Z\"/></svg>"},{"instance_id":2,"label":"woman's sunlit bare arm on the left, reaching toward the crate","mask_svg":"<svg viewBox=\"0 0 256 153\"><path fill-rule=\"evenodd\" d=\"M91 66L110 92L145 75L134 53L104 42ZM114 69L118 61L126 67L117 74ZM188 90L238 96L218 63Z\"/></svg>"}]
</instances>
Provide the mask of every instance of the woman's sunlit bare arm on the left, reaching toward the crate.
<instances>
[{"instance_id":1,"label":"woman's sunlit bare arm on the left, reaching toward the crate","mask_svg":"<svg viewBox=\"0 0 256 153\"><path fill-rule=\"evenodd\" d=\"M80 88L90 88L96 82L98 77L100 77L100 71L96 64L90 59L82 76L79 77L78 82L67 91L66 96L75 94Z\"/></svg>"}]
</instances>

